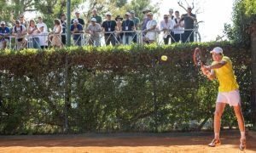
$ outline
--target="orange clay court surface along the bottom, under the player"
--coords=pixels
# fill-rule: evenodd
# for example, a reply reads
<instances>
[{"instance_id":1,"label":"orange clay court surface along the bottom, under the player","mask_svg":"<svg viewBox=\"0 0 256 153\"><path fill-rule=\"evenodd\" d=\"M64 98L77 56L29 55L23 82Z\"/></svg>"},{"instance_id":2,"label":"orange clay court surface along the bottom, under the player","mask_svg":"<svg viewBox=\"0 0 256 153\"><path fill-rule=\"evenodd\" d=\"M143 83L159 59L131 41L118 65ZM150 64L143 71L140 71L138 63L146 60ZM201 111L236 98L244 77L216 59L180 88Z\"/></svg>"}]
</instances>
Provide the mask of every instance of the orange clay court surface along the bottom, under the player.
<instances>
[{"instance_id":1,"label":"orange clay court surface along the bottom, under the player","mask_svg":"<svg viewBox=\"0 0 256 153\"><path fill-rule=\"evenodd\" d=\"M212 133L111 133L1 136L0 152L240 152L239 132L222 133L222 145L210 148ZM247 135L247 150L256 152Z\"/></svg>"}]
</instances>

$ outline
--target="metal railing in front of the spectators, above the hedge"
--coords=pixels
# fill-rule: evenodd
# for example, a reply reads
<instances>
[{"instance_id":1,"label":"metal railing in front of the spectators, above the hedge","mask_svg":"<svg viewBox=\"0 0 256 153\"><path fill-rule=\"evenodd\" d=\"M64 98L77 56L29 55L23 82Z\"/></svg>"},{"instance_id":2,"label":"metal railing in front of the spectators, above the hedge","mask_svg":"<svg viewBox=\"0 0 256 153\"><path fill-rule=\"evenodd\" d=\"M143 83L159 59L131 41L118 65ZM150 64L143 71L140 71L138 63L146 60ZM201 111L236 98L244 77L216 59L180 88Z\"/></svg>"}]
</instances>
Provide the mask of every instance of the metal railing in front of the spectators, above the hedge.
<instances>
[{"instance_id":1,"label":"metal railing in front of the spectators, above the hedge","mask_svg":"<svg viewBox=\"0 0 256 153\"><path fill-rule=\"evenodd\" d=\"M146 43L156 42L157 44L168 44L174 42L200 42L201 36L197 29L177 30L174 31L108 31L91 33L74 33L72 35L73 46L105 46L117 44L137 43L143 45ZM180 31L180 32L178 32ZM65 44L61 39L66 39L66 34L50 34L44 32L38 35L25 35L19 42L18 37L9 36L9 48L48 48L64 47Z\"/></svg>"}]
</instances>

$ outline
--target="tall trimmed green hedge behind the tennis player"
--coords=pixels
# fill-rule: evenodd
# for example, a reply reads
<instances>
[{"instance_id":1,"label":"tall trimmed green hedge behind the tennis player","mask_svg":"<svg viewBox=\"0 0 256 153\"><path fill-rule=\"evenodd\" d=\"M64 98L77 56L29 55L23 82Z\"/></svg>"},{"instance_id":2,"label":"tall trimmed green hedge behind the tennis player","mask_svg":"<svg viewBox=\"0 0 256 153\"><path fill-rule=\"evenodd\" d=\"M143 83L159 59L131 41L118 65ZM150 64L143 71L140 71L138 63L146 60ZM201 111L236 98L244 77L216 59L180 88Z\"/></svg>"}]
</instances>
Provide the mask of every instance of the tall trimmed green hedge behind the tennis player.
<instances>
[{"instance_id":1,"label":"tall trimmed green hedge behind the tennis player","mask_svg":"<svg viewBox=\"0 0 256 153\"><path fill-rule=\"evenodd\" d=\"M215 46L234 63L249 125L250 53L239 44L208 42L4 50L0 133L63 133L65 125L68 133L211 129L218 82L201 75L192 54L201 47L211 63ZM236 127L230 108L222 121Z\"/></svg>"}]
</instances>

